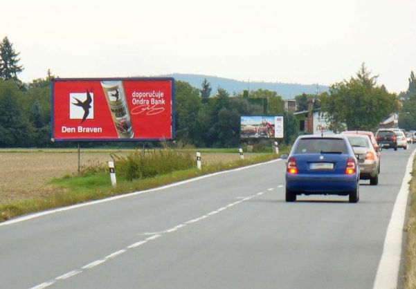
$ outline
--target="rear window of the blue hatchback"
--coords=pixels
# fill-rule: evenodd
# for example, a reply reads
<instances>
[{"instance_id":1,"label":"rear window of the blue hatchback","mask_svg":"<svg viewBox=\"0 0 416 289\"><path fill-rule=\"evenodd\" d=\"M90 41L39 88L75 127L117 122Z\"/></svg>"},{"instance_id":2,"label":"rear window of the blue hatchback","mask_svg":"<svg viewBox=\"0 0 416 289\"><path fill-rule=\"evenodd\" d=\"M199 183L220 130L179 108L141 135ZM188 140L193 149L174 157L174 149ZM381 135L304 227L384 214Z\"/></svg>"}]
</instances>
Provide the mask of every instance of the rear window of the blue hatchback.
<instances>
[{"instance_id":1,"label":"rear window of the blue hatchback","mask_svg":"<svg viewBox=\"0 0 416 289\"><path fill-rule=\"evenodd\" d=\"M347 147L337 138L302 138L295 153L347 153Z\"/></svg>"}]
</instances>

